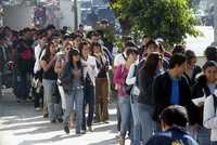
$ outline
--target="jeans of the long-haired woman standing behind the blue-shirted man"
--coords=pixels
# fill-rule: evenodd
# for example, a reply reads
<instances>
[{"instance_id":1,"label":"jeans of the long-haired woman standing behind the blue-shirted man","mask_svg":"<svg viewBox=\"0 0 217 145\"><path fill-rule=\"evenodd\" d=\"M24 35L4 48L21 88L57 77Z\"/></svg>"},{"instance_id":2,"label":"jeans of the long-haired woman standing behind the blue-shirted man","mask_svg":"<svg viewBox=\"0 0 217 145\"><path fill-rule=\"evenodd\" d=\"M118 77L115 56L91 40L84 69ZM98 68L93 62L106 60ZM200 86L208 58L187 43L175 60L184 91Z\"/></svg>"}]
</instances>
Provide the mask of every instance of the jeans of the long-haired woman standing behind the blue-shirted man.
<instances>
[{"instance_id":1,"label":"jeans of the long-haired woman standing behind the blue-shirted man","mask_svg":"<svg viewBox=\"0 0 217 145\"><path fill-rule=\"evenodd\" d=\"M142 141L145 144L156 130L156 122L152 119L154 107L139 103L138 109L142 126Z\"/></svg>"}]
</instances>

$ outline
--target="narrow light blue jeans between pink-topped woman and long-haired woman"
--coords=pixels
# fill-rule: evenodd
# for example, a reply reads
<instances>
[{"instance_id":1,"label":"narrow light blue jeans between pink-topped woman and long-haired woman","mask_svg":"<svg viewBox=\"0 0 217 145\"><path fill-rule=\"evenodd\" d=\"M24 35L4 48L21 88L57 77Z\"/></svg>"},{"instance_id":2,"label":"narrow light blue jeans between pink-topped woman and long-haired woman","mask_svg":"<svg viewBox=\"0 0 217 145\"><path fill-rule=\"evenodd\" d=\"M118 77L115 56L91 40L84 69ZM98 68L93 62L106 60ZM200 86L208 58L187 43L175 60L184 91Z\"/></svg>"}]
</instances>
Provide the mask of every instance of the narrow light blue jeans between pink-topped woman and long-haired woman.
<instances>
[{"instance_id":1,"label":"narrow light blue jeans between pink-topped woman and long-haired woman","mask_svg":"<svg viewBox=\"0 0 217 145\"><path fill-rule=\"evenodd\" d=\"M133 142L132 145L140 145L141 141L141 122L139 119L139 109L138 109L138 96L131 95L130 96L130 105L131 105L131 113L133 119Z\"/></svg>"}]
</instances>

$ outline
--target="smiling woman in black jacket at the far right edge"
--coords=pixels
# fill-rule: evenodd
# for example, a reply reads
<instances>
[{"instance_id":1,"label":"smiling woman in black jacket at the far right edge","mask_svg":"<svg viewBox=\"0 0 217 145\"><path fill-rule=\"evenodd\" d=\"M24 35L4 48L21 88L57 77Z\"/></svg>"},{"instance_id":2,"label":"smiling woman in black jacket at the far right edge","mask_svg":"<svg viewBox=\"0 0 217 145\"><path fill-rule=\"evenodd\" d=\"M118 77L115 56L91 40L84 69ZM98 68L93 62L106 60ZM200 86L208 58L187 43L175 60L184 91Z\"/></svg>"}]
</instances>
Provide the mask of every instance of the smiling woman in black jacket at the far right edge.
<instances>
[{"instance_id":1,"label":"smiling woman in black jacket at the far right edge","mask_svg":"<svg viewBox=\"0 0 217 145\"><path fill-rule=\"evenodd\" d=\"M217 80L217 66L216 63L213 61L206 62L205 65L203 66L203 75L199 77L197 82L193 87L193 97L203 97L203 96L209 96L210 94L214 94L214 91L216 90L216 80ZM195 114L195 122L194 122L194 137L197 140L200 145L209 145L209 134L210 130L213 129L208 127L209 122L212 121L212 118L206 118L206 115L204 114L209 114L206 111L204 105L196 106L196 114ZM206 128L203 127L203 122ZM215 133L214 133L215 134ZM212 135L213 136L213 135ZM215 134L216 136L216 134ZM214 137L215 139L215 137ZM213 140L212 137L212 141ZM217 140L216 140L217 141Z\"/></svg>"}]
</instances>

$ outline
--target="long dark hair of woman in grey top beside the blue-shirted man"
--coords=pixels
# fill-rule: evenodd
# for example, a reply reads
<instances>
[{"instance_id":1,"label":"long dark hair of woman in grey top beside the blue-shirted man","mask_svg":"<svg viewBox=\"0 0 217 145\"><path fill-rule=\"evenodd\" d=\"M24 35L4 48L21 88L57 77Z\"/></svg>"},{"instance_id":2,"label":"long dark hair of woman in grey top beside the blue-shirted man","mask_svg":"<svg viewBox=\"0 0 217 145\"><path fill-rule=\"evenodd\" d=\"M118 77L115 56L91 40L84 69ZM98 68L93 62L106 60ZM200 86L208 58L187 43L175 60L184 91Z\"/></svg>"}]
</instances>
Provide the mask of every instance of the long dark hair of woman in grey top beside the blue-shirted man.
<instances>
[{"instance_id":1,"label":"long dark hair of woman in grey top beside the blue-shirted man","mask_svg":"<svg viewBox=\"0 0 217 145\"><path fill-rule=\"evenodd\" d=\"M149 77L154 77L156 75L156 69L159 61L162 61L162 55L159 53L157 52L150 53L139 72L142 76L144 75Z\"/></svg>"}]
</instances>

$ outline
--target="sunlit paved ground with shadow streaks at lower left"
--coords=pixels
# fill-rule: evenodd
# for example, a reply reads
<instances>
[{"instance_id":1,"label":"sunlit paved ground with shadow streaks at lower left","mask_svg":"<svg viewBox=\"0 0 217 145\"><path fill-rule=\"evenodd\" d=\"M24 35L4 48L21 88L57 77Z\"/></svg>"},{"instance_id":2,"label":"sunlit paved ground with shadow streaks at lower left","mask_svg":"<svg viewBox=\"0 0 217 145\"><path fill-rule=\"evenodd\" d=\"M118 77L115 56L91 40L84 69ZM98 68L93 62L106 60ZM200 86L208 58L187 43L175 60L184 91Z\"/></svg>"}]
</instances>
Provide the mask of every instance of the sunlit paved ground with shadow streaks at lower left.
<instances>
[{"instance_id":1,"label":"sunlit paved ground with shadow streaks at lower left","mask_svg":"<svg viewBox=\"0 0 217 145\"><path fill-rule=\"evenodd\" d=\"M111 105L111 121L94 124L94 132L77 136L75 131L66 135L61 123L51 124L35 111L33 103L17 104L8 90L0 98L0 145L115 145L115 107ZM129 141L128 141L129 144Z\"/></svg>"}]
</instances>

